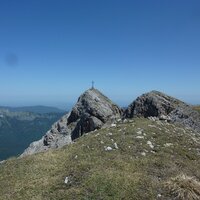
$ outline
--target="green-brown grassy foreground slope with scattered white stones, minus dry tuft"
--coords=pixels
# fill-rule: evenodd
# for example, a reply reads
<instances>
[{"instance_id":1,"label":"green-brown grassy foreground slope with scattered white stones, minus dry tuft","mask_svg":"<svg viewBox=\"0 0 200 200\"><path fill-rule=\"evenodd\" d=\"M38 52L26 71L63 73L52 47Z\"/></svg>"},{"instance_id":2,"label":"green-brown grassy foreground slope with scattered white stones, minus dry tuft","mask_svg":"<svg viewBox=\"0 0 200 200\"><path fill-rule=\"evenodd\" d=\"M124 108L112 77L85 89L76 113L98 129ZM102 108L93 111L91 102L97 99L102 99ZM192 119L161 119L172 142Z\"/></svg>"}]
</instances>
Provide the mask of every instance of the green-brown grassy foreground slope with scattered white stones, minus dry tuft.
<instances>
[{"instance_id":1,"label":"green-brown grassy foreground slope with scattered white stones, minus dry tuft","mask_svg":"<svg viewBox=\"0 0 200 200\"><path fill-rule=\"evenodd\" d=\"M8 160L0 166L0 199L155 200L158 194L171 199L164 189L171 177L183 173L200 179L199 144L190 130L136 119L92 132L60 150Z\"/></svg>"}]
</instances>

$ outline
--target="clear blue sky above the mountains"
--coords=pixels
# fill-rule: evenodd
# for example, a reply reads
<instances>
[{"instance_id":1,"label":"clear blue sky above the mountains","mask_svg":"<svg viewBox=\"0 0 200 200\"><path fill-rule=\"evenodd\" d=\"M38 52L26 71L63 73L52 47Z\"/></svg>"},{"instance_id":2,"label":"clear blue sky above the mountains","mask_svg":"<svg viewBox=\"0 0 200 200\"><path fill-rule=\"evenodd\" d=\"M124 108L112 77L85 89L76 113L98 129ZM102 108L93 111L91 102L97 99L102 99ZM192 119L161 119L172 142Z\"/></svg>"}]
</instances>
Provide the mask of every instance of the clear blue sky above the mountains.
<instances>
[{"instance_id":1,"label":"clear blue sky above the mountains","mask_svg":"<svg viewBox=\"0 0 200 200\"><path fill-rule=\"evenodd\" d=\"M200 103L200 1L0 0L0 105L67 107L92 80Z\"/></svg>"}]
</instances>

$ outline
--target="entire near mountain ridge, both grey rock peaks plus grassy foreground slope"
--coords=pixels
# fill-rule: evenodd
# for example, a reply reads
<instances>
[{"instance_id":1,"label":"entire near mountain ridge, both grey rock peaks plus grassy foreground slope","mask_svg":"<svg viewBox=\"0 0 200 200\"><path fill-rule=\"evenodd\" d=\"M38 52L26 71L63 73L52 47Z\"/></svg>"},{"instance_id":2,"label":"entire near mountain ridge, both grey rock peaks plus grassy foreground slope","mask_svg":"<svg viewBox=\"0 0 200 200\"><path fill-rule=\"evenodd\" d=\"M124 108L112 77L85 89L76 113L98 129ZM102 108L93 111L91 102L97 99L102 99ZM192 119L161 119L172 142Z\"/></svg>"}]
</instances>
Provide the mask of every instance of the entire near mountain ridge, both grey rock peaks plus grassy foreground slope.
<instances>
[{"instance_id":1,"label":"entire near mountain ridge, both grey rock peaks plus grassy foreground slope","mask_svg":"<svg viewBox=\"0 0 200 200\"><path fill-rule=\"evenodd\" d=\"M123 112L87 90L20 158L1 163L0 199L199 200L193 109L153 91Z\"/></svg>"}]
</instances>

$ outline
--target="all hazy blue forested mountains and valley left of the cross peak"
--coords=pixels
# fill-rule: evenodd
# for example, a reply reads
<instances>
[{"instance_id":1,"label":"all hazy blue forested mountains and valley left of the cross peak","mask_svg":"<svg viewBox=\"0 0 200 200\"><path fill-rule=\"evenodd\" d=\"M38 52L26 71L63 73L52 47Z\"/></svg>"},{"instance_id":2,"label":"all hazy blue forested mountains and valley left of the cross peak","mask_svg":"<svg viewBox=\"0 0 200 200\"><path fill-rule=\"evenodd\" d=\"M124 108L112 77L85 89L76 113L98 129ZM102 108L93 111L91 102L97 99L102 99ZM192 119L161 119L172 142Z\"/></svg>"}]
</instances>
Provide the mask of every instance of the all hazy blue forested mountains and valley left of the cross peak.
<instances>
[{"instance_id":1,"label":"all hazy blue forested mountains and valley left of the cross peak","mask_svg":"<svg viewBox=\"0 0 200 200\"><path fill-rule=\"evenodd\" d=\"M0 160L22 153L65 113L46 106L0 107Z\"/></svg>"}]
</instances>

